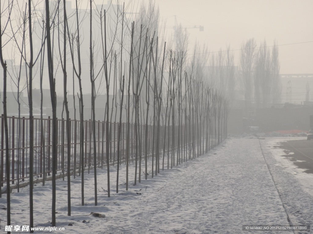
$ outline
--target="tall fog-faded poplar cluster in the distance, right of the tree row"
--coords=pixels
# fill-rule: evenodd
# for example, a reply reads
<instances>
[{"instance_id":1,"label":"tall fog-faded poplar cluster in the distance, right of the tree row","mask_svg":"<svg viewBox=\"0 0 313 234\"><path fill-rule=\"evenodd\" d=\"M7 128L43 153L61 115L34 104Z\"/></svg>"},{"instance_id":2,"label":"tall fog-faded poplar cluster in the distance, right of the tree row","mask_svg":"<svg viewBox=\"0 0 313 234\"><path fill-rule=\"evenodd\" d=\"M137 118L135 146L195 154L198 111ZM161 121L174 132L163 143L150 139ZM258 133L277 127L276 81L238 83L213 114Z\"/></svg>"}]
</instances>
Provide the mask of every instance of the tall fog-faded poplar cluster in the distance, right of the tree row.
<instances>
[{"instance_id":1,"label":"tall fog-faded poplar cluster in the distance, right of the tree row","mask_svg":"<svg viewBox=\"0 0 313 234\"><path fill-rule=\"evenodd\" d=\"M280 103L281 81L280 63L276 41L269 47L264 40L257 48L254 38L241 45L239 60L239 82L244 100L254 98L256 107L268 107Z\"/></svg>"}]
</instances>

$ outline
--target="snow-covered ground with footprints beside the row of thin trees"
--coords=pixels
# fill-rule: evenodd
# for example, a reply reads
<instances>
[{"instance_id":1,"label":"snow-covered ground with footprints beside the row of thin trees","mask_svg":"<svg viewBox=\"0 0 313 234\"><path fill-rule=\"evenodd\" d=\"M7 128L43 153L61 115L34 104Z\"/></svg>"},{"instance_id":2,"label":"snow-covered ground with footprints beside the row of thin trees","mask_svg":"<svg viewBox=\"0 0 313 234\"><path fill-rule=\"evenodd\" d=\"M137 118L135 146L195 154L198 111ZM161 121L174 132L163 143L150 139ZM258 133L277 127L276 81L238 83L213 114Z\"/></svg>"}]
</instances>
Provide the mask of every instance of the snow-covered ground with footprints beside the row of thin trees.
<instances>
[{"instance_id":1,"label":"snow-covered ground with footprints beside the row of thin trees","mask_svg":"<svg viewBox=\"0 0 313 234\"><path fill-rule=\"evenodd\" d=\"M93 171L85 174L85 206L80 201L80 177L71 178L72 215L67 216L65 181L57 181L57 226L51 233L281 233L243 231L242 225L311 224L313 220L312 175L297 169L274 146L283 140L304 139L231 137L216 149L161 171L125 190L120 180L115 193L116 166L110 169L111 197L107 198L106 170L98 173L98 206L94 206ZM161 161L161 159L160 159ZM151 158L149 159L149 165ZM144 164L144 161L142 162ZM151 166L150 166L151 167ZM162 168L161 168L162 170ZM130 182L134 181L131 164ZM125 177L125 165L120 175ZM143 174L142 174L143 175ZM102 188L101 188L102 187ZM28 188L11 197L12 225L27 225ZM34 225L51 224L51 182L34 186ZM0 198L1 231L6 225L6 196ZM105 217L90 215L97 212ZM288 218L290 222L288 222ZM68 226L68 225L72 226ZM35 231L47 233L49 231ZM313 233L313 231L311 231ZM283 233L311 233L283 232ZM25 233L25 232L13 232Z\"/></svg>"}]
</instances>

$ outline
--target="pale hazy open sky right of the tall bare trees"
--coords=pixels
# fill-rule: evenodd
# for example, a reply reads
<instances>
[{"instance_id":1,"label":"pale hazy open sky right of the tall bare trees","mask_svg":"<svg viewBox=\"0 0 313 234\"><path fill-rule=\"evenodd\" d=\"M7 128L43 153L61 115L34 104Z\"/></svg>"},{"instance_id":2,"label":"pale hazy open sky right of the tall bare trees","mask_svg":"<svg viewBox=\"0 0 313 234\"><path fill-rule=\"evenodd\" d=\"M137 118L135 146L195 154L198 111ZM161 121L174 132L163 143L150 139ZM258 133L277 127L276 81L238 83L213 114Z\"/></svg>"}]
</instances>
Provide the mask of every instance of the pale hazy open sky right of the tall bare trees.
<instances>
[{"instance_id":1,"label":"pale hazy open sky right of the tall bare trees","mask_svg":"<svg viewBox=\"0 0 313 234\"><path fill-rule=\"evenodd\" d=\"M206 42L210 51L240 49L243 41L254 37L258 43L278 45L313 41L312 0L156 0L161 19L174 25L173 15L188 29L191 42ZM189 46L191 47L191 45ZM279 46L280 73L313 73L313 42ZM235 57L239 57L238 51Z\"/></svg>"}]
</instances>

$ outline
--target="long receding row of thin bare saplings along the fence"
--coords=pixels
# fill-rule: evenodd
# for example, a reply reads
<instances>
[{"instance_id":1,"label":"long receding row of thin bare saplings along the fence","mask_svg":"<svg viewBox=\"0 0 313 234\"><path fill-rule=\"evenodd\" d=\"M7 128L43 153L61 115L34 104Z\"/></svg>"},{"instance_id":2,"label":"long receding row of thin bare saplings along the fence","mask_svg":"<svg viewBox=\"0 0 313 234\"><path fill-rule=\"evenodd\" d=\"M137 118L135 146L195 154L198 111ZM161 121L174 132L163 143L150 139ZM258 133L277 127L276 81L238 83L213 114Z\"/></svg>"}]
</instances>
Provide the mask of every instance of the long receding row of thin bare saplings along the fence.
<instances>
[{"instance_id":1,"label":"long receding row of thin bare saplings along the fence","mask_svg":"<svg viewBox=\"0 0 313 234\"><path fill-rule=\"evenodd\" d=\"M7 223L10 225L10 158L8 140L8 124L6 111L6 88L7 88L7 65L3 61L5 46L15 48L20 56L19 72L17 80L20 80L22 63L25 63L26 87L28 92L29 108L29 164L33 165L34 158L34 125L33 125L33 80L34 73L39 71L41 87L41 123L43 123L43 83L49 80L50 101L52 109L52 146L51 154L44 157L44 180L46 178L45 162L52 165L52 226L56 226L56 169L57 169L57 99L56 85L63 84L64 107L66 122L66 158L68 179L68 215L71 215L70 203L70 161L74 154L74 177L76 176L76 166L80 168L81 177L81 204L84 205L84 170L86 152L84 148L84 101L91 103L92 113L92 155L95 179L95 205L97 205L97 155L96 146L96 100L100 94L101 87L105 87L106 103L102 103L105 125L101 131L102 139L105 140L105 160L107 167L107 195L110 197L110 158L112 157L112 124L119 117L119 128L117 136L117 178L116 193L119 187L119 166L121 164L121 129L122 118L126 117L126 190L129 188L129 163L130 163L130 133L133 126L135 137L135 180L134 184L141 183L141 167L144 166L145 179L152 171L151 177L157 176L161 168L173 168L182 162L198 157L208 152L226 138L227 118L229 102L225 92L218 89L214 79L209 76L204 66L208 60L199 51L206 50L206 47L194 46L192 56L187 55L187 34L183 30L177 30L175 41L166 43L162 32L158 30L159 12L152 1L148 6L142 6L139 17L131 20L126 17L126 12L131 11L130 5L125 6L120 2L116 5L95 5L89 1L89 9L82 10L79 1L75 1L75 8L68 12L66 1L58 0L51 2L48 0L33 4L31 0L22 5L7 0L1 2L1 22L0 22L0 45L1 64L3 67L3 114L5 125L6 142L6 183L7 183ZM36 6L42 4L44 11L38 11ZM5 7L5 9L3 9ZM106 8L105 8L106 7ZM15 12L15 18L11 17ZM17 14L16 12L19 12ZM22 13L24 12L24 13ZM38 13L40 12L40 13ZM28 17L27 17L28 16ZM90 88L85 90L86 76L82 76L87 70L82 62L82 25L89 17L89 72ZM3 22L2 19L6 21ZM17 20L19 19L19 21ZM34 27L33 25L36 25ZM10 27L10 29L8 29ZM40 30L38 30L40 28ZM97 29L97 30L95 30ZM98 30L99 29L99 30ZM28 31L27 31L28 30ZM180 33L179 33L180 32ZM39 35L40 34L40 35ZM34 43L33 36L36 35L37 43ZM86 31L84 36L86 36ZM2 39L5 38L6 41ZM39 41L39 42L38 42ZM173 48L170 48L168 45ZM27 47L27 49L26 49ZM45 61L46 59L46 61ZM70 66L68 65L70 64ZM221 61L218 63L221 64ZM215 66L215 64L213 64ZM233 66L232 55L227 54L227 66ZM70 69L69 69L70 68ZM79 103L79 124L74 128L79 128L80 147L78 152L74 152L70 145L72 139L71 124L68 106L68 71L73 73L73 103L74 119L76 120L75 94ZM59 79L58 73L63 75ZM46 75L45 75L46 74ZM230 75L229 75L230 74ZM231 71L219 74L219 77L226 77L229 82L233 78L228 78L233 74ZM45 78L46 77L46 78ZM225 79L226 79L225 78ZM78 80L79 92L74 85ZM62 81L62 82L60 82ZM228 86L231 86L229 83ZM220 86L222 87L222 81ZM20 87L19 81L17 87ZM88 86L87 86L88 87ZM127 93L126 93L127 89ZM22 88L23 90L23 88ZM230 90L230 88L229 88ZM91 100L84 99L84 92L91 91ZM19 91L18 91L19 92ZM112 94L113 95L110 95ZM112 102L110 103L110 99ZM125 101L124 101L125 99ZM19 110L20 111L20 110ZM99 110L98 110L99 111ZM112 120L113 113L115 118ZM119 113L119 114L118 114ZM63 112L62 112L63 115ZM134 124L132 124L134 122ZM150 127L152 126L152 128ZM41 129L44 126L41 124ZM142 131L142 129L145 131ZM161 131L162 128L162 131ZM152 132L149 132L149 131ZM171 131L171 133L170 133ZM43 132L43 131L42 131ZM105 137L104 137L105 134ZM145 137L143 137L145 134ZM148 135L153 136L151 145L148 145ZM44 135L40 139L45 144ZM144 144L144 145L143 145ZM104 147L104 144L102 144ZM149 155L151 147L151 155ZM45 149L45 147L43 147ZM144 149L144 150L143 150ZM76 161L76 154L79 155ZM49 156L48 156L49 155ZM151 156L151 157L150 157ZM49 158L48 158L49 157ZM51 158L50 158L51 157ZM64 158L64 157L62 157ZM148 168L148 160L151 158L151 168ZM167 160L166 160L167 159ZM63 159L62 159L63 160ZM145 161L143 165L142 160ZM11 163L14 158L11 158ZM63 162L64 163L64 162ZM101 167L103 167L103 159ZM50 166L50 165L49 165ZM90 165L89 165L90 166ZM138 175L138 177L137 177ZM33 167L29 167L29 208L30 227L33 227ZM43 180L43 181L44 181ZM44 183L44 182L43 182Z\"/></svg>"}]
</instances>

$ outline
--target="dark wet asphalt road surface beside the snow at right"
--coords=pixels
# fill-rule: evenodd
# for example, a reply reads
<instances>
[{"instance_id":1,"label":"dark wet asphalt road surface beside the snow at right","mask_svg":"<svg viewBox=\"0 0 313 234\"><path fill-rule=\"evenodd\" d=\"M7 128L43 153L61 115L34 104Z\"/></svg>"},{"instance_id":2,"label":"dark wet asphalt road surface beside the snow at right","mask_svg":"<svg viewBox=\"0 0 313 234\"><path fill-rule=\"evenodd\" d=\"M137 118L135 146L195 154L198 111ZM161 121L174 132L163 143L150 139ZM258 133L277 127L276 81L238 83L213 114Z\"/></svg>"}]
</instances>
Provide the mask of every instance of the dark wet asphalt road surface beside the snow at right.
<instances>
[{"instance_id":1,"label":"dark wet asphalt road surface beside the snow at right","mask_svg":"<svg viewBox=\"0 0 313 234\"><path fill-rule=\"evenodd\" d=\"M304 172L313 174L313 140L291 140L280 144L277 147L284 149L286 153L283 157L288 158L297 167L305 169ZM290 155L290 152L294 154Z\"/></svg>"}]
</instances>

